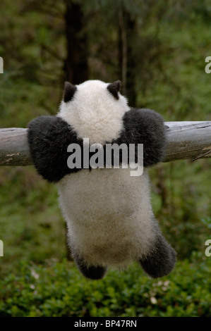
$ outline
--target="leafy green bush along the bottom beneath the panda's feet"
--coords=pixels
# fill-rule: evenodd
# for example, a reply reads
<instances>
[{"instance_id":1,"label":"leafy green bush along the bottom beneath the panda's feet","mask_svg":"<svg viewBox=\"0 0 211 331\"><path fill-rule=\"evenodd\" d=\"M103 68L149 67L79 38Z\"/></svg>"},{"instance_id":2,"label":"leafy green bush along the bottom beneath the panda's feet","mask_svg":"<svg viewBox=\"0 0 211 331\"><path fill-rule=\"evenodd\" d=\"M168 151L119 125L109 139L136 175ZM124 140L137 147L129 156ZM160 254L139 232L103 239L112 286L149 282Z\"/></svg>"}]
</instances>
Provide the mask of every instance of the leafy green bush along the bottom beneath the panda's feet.
<instances>
[{"instance_id":1,"label":"leafy green bush along the bottom beneath the panda's feet","mask_svg":"<svg viewBox=\"0 0 211 331\"><path fill-rule=\"evenodd\" d=\"M72 264L21 263L16 275L1 280L0 316L210 316L210 258L178 262L159 280L134 264L91 281Z\"/></svg>"}]
</instances>

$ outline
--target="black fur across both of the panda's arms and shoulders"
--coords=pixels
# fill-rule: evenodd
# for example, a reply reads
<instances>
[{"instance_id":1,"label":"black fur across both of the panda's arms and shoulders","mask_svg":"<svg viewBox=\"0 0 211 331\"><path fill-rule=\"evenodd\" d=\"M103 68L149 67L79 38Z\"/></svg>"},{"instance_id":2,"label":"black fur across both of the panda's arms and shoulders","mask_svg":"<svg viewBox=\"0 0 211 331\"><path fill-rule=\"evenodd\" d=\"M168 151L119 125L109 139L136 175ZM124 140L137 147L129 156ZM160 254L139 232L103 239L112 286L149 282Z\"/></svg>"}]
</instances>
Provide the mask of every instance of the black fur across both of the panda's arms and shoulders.
<instances>
[{"instance_id":1,"label":"black fur across both of the panda's arms and shoulders","mask_svg":"<svg viewBox=\"0 0 211 331\"><path fill-rule=\"evenodd\" d=\"M143 166L148 167L161 161L164 154L165 135L162 117L150 109L131 108L123 116L123 131L121 136L108 143L143 144ZM68 168L67 152L69 144L79 144L81 148L81 161L83 167L83 140L78 139L71 125L57 116L40 116L29 123L28 142L32 161L37 172L49 182L59 182L69 173L76 173L81 169ZM104 146L104 164L106 163L106 149ZM135 162L138 161L137 149ZM90 153L90 157L95 154ZM122 151L119 151L121 164ZM129 162L129 159L128 159ZM114 165L114 155L111 158ZM91 170L91 168L90 168Z\"/></svg>"}]
</instances>

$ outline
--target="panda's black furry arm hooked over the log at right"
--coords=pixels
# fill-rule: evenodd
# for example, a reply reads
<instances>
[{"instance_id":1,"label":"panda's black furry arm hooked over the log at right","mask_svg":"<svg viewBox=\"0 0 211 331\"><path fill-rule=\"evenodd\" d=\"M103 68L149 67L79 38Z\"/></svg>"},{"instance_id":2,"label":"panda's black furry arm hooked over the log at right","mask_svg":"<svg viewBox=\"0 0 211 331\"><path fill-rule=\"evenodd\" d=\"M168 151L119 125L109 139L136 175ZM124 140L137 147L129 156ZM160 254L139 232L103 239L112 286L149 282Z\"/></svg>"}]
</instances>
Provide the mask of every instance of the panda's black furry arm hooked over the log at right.
<instances>
[{"instance_id":1,"label":"panda's black furry arm hooked over the log at right","mask_svg":"<svg viewBox=\"0 0 211 331\"><path fill-rule=\"evenodd\" d=\"M123 142L143 144L143 166L148 167L162 160L166 144L164 120L150 109L131 108L123 118Z\"/></svg>"}]
</instances>

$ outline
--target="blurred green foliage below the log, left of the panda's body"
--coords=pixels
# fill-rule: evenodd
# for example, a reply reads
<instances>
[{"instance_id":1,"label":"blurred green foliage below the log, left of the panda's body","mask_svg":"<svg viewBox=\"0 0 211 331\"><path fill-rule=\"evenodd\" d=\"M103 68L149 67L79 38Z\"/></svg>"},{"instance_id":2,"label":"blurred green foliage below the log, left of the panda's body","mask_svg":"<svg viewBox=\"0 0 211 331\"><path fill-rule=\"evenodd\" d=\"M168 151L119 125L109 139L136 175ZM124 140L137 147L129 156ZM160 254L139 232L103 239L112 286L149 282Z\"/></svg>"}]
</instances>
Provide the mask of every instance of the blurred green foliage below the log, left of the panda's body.
<instances>
[{"instance_id":1,"label":"blurred green foliage below the log, left of the panda's body","mask_svg":"<svg viewBox=\"0 0 211 331\"><path fill-rule=\"evenodd\" d=\"M66 227L56 187L41 180L32 167L6 167L0 173L1 275L18 268L23 258L34 263L64 258Z\"/></svg>"}]
</instances>

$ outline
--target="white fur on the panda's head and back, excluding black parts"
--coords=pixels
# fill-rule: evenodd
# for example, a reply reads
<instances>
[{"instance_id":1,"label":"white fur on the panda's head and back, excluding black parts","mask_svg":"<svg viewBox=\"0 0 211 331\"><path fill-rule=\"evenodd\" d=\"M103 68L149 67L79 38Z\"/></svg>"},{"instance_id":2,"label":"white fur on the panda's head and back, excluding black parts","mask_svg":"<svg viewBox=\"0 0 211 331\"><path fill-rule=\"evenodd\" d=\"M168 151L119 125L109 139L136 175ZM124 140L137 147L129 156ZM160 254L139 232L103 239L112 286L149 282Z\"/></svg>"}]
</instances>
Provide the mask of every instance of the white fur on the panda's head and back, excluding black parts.
<instances>
[{"instance_id":1,"label":"white fur on the panda's head and back, excluding black parts","mask_svg":"<svg viewBox=\"0 0 211 331\"><path fill-rule=\"evenodd\" d=\"M59 116L90 144L111 142L123 129L126 99L114 99L107 84L78 85ZM71 249L90 265L124 268L147 254L154 238L147 170L131 177L128 169L80 170L58 184L59 203L68 225Z\"/></svg>"}]
</instances>

